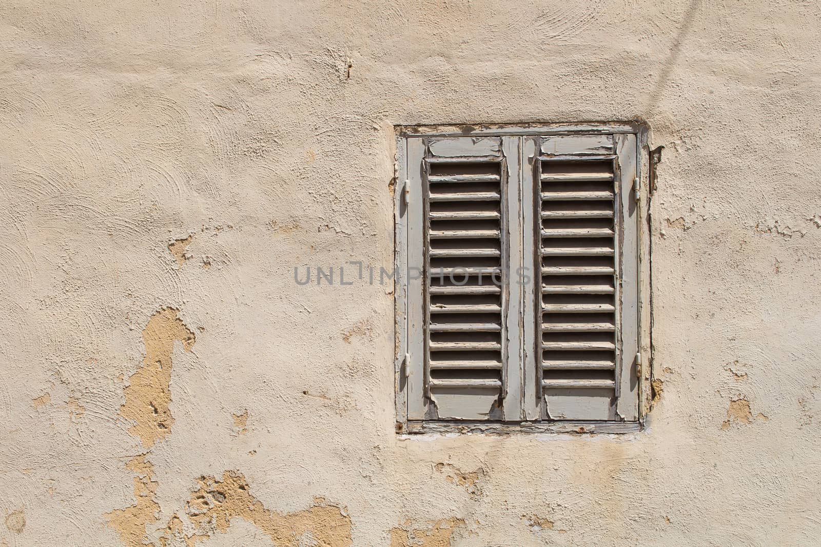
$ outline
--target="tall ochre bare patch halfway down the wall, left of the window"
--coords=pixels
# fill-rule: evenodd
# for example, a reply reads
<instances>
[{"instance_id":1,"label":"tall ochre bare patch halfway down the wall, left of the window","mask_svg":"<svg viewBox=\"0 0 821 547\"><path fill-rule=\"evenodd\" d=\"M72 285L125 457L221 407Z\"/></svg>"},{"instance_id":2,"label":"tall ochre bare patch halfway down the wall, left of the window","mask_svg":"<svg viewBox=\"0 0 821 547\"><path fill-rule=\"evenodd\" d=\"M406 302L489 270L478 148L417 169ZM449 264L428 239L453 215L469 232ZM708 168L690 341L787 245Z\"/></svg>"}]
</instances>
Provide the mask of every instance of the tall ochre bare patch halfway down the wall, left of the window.
<instances>
[{"instance_id":1,"label":"tall ochre bare patch halfway down the wall, left of the window","mask_svg":"<svg viewBox=\"0 0 821 547\"><path fill-rule=\"evenodd\" d=\"M195 342L194 333L177 318L177 313L177 309L163 308L151 316L143 330L142 365L123 390L126 403L120 407L120 413L135 422L128 431L139 437L146 448L170 435L174 423L168 408L174 341L179 340L186 351L190 351Z\"/></svg>"}]
</instances>

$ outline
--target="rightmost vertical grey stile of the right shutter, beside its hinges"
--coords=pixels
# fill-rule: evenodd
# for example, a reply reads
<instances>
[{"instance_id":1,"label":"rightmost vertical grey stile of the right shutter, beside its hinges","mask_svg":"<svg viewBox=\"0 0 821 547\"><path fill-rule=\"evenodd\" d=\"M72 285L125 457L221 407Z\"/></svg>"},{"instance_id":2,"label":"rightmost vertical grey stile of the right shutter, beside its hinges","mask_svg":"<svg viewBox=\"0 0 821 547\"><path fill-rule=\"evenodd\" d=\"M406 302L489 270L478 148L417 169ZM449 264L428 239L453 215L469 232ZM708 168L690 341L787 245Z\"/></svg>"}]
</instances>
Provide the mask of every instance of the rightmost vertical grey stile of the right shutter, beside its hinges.
<instances>
[{"instance_id":1,"label":"rightmost vertical grey stile of the right shutter, beside its hinges","mask_svg":"<svg viewBox=\"0 0 821 547\"><path fill-rule=\"evenodd\" d=\"M621 359L617 363L619 399L617 412L629 422L639 419L639 379L635 374L635 355L639 352L639 208L633 184L638 175L634 134L617 135L621 194L618 202L620 257L618 294L621 308L619 337Z\"/></svg>"}]
</instances>

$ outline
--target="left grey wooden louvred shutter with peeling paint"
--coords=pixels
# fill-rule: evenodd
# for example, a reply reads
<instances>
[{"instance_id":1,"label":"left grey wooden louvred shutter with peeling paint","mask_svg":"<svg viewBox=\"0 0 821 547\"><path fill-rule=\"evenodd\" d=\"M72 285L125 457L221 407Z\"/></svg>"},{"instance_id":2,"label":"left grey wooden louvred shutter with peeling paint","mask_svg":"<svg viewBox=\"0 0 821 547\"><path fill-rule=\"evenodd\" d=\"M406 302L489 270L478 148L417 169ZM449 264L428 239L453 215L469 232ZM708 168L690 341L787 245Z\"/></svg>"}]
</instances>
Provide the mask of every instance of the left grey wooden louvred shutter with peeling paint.
<instances>
[{"instance_id":1,"label":"left grey wooden louvred shutter with peeling paint","mask_svg":"<svg viewBox=\"0 0 821 547\"><path fill-rule=\"evenodd\" d=\"M513 371L511 381L507 367L511 162L505 150L516 149L516 141L421 140L409 147L416 157L408 158L418 162L409 163L410 173L418 169L420 175L410 185L419 189L413 193L421 200L421 241L409 244L421 250L423 326L421 333L409 333L421 342L411 349L420 374L409 379L409 417L519 419L519 375ZM517 354L512 361L518 362Z\"/></svg>"}]
</instances>

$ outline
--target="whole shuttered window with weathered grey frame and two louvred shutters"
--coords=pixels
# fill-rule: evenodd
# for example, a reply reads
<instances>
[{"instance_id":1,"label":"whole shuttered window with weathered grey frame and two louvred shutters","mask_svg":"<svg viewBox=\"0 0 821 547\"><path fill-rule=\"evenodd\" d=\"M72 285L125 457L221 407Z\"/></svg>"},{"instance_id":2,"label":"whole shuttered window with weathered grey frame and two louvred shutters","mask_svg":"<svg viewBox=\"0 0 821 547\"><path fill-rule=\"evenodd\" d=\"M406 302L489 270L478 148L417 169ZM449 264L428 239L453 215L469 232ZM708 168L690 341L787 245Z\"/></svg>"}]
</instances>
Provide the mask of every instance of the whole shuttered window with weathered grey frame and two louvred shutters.
<instances>
[{"instance_id":1,"label":"whole shuttered window with weathered grey frame and two louvred shutters","mask_svg":"<svg viewBox=\"0 0 821 547\"><path fill-rule=\"evenodd\" d=\"M635 125L397 131L401 431L635 431Z\"/></svg>"}]
</instances>

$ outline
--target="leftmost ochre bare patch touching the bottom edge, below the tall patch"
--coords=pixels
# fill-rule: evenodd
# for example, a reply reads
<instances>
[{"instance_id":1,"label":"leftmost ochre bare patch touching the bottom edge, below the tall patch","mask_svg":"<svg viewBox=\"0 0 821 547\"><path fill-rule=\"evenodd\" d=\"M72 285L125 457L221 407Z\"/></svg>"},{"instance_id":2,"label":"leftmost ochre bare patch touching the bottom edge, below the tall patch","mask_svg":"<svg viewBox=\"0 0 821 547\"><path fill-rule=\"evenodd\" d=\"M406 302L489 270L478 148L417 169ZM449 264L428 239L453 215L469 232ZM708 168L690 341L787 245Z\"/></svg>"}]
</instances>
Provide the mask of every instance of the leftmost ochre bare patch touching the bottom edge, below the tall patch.
<instances>
[{"instance_id":1,"label":"leftmost ochre bare patch touching the bottom edge, below the tall patch","mask_svg":"<svg viewBox=\"0 0 821 547\"><path fill-rule=\"evenodd\" d=\"M154 481L154 466L144 455L126 463L126 468L135 472L135 504L124 509L114 509L104 517L126 547L142 547L146 536L145 525L158 521L159 504L155 499L158 482ZM151 545L151 544L149 544Z\"/></svg>"}]
</instances>

